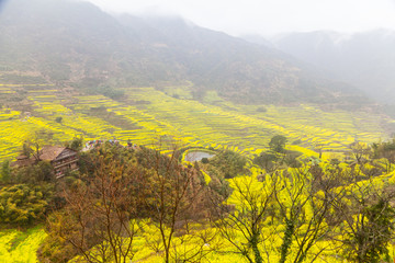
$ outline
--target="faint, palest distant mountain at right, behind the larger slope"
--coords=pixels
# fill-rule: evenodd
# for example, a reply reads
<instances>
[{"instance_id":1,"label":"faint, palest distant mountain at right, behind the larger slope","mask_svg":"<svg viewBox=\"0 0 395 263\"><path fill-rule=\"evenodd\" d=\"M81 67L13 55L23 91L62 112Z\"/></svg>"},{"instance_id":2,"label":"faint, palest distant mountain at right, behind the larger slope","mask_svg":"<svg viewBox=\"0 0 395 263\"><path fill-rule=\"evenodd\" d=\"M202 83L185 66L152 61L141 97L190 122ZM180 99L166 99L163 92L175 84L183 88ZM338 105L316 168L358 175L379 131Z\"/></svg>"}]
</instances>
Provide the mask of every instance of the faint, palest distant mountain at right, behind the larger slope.
<instances>
[{"instance_id":1,"label":"faint, palest distant mountain at right, behind the larger slope","mask_svg":"<svg viewBox=\"0 0 395 263\"><path fill-rule=\"evenodd\" d=\"M343 35L335 32L292 33L274 38L275 46L364 90L394 103L395 32L376 30Z\"/></svg>"}]
</instances>

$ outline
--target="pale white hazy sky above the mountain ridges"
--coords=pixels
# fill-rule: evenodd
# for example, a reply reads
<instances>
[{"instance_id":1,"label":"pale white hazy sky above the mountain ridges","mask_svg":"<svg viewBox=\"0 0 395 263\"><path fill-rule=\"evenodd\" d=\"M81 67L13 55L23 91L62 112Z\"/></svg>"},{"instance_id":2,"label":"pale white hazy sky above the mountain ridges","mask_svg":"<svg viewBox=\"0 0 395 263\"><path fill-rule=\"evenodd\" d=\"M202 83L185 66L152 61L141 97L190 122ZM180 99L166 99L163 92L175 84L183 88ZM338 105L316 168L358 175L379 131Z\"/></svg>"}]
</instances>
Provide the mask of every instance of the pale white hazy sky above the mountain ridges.
<instances>
[{"instance_id":1,"label":"pale white hazy sky above the mountain ridges","mask_svg":"<svg viewBox=\"0 0 395 263\"><path fill-rule=\"evenodd\" d=\"M178 14L232 35L395 30L395 0L87 0L112 12Z\"/></svg>"}]
</instances>

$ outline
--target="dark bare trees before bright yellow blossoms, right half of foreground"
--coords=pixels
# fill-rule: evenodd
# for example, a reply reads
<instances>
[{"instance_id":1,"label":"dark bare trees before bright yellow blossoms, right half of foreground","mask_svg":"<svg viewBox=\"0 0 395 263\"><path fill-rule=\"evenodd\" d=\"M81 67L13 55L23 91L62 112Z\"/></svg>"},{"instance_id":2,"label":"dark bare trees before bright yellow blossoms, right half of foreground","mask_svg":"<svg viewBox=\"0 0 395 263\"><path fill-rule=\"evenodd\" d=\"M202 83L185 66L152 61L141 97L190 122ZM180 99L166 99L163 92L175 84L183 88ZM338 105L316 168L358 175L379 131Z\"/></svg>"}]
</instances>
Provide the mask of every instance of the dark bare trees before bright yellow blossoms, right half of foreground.
<instances>
[{"instance_id":1,"label":"dark bare trees before bright yellow blossoms, right half of foreground","mask_svg":"<svg viewBox=\"0 0 395 263\"><path fill-rule=\"evenodd\" d=\"M229 253L248 262L390 262L395 191L382 179L306 163L230 185L233 198L219 203L214 221Z\"/></svg>"}]
</instances>

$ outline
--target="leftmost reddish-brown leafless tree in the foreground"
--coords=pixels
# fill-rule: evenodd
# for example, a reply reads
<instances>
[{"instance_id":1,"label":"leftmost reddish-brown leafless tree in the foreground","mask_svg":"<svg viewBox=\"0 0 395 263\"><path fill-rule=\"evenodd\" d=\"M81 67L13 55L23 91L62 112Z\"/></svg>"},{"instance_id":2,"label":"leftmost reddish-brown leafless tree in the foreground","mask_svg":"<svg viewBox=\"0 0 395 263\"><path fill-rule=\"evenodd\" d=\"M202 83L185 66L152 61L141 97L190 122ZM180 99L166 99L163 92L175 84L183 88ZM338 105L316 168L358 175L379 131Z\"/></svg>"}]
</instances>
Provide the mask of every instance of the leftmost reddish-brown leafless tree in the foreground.
<instances>
[{"instance_id":1,"label":"leftmost reddish-brown leafless tree in the foreground","mask_svg":"<svg viewBox=\"0 0 395 263\"><path fill-rule=\"evenodd\" d=\"M63 196L66 206L49 219L49 229L71 243L87 262L128 262L138 207L134 182L143 173L135 167L99 157L93 176L78 181Z\"/></svg>"}]
</instances>

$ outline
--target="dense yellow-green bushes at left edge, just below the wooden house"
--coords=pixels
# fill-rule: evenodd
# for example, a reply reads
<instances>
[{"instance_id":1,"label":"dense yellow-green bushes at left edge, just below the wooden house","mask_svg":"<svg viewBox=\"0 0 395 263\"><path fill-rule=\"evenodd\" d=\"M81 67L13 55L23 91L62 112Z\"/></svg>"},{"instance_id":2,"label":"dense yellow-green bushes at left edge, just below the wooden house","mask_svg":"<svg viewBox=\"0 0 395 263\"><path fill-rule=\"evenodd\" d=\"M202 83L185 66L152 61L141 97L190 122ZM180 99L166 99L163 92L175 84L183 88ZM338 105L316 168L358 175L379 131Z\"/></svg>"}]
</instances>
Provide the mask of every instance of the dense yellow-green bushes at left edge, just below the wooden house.
<instances>
[{"instance_id":1,"label":"dense yellow-green bushes at left edge, just below the wooden house","mask_svg":"<svg viewBox=\"0 0 395 263\"><path fill-rule=\"evenodd\" d=\"M55 206L53 167L40 161L11 168L3 161L0 171L0 224L31 226L45 220Z\"/></svg>"}]
</instances>

